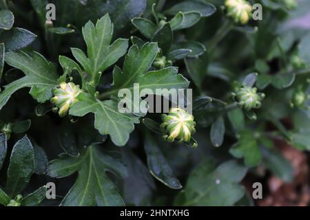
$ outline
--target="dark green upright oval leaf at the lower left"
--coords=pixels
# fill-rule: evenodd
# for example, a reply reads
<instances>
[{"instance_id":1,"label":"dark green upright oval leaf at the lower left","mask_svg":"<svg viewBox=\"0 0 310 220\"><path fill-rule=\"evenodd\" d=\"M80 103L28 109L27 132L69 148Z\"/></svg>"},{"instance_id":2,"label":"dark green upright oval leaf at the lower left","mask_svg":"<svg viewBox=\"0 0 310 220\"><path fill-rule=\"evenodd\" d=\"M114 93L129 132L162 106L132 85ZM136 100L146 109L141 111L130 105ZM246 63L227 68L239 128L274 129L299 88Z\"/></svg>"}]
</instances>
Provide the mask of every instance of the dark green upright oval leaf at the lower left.
<instances>
[{"instance_id":1,"label":"dark green upright oval leaf at the lower left","mask_svg":"<svg viewBox=\"0 0 310 220\"><path fill-rule=\"evenodd\" d=\"M24 136L14 145L10 157L6 192L11 198L15 197L27 186L33 172L33 147L28 137Z\"/></svg>"}]
</instances>

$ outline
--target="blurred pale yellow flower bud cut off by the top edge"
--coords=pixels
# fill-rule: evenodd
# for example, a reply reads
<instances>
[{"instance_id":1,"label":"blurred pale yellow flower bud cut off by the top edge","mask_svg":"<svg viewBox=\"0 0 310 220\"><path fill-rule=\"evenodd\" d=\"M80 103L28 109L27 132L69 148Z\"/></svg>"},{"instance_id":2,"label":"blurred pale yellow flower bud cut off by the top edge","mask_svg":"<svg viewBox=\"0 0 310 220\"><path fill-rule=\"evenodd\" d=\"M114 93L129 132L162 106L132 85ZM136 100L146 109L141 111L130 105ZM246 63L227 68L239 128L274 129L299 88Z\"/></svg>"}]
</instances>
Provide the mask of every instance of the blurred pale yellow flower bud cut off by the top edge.
<instances>
[{"instance_id":1,"label":"blurred pale yellow flower bud cut off by the top edge","mask_svg":"<svg viewBox=\"0 0 310 220\"><path fill-rule=\"evenodd\" d=\"M252 16L252 6L245 0L226 0L227 16L236 23L246 24Z\"/></svg>"}]
</instances>

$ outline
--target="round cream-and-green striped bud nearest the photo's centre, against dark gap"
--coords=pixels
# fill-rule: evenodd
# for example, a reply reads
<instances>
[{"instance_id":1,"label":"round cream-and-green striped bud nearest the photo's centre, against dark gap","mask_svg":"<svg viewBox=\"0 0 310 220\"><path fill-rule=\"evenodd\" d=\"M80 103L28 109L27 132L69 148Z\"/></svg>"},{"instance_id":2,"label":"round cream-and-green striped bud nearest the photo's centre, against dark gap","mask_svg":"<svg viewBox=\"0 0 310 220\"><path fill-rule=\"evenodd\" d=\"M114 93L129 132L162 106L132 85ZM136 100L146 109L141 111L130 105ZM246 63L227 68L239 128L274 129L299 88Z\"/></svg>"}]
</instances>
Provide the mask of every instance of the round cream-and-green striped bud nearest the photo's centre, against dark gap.
<instances>
[{"instance_id":1,"label":"round cream-and-green striped bud nearest the photo's centre, against dark gap","mask_svg":"<svg viewBox=\"0 0 310 220\"><path fill-rule=\"evenodd\" d=\"M184 109L172 108L169 114L161 115L163 123L161 128L165 129L166 134L163 138L168 142L178 140L179 142L189 142L192 134L196 132L194 116L187 113Z\"/></svg>"}]
</instances>

